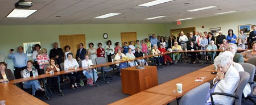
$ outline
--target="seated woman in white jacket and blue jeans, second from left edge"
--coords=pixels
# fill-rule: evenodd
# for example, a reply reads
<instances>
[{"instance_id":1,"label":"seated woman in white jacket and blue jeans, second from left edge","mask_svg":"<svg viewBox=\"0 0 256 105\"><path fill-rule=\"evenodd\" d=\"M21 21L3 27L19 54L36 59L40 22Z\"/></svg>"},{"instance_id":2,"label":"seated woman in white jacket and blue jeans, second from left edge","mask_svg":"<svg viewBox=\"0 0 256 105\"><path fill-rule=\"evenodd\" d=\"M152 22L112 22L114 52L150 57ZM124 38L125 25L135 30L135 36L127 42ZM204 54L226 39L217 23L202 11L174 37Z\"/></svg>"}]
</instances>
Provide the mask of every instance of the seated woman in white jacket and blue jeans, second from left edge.
<instances>
[{"instance_id":1,"label":"seated woman in white jacket and blue jeans, second from left edge","mask_svg":"<svg viewBox=\"0 0 256 105\"><path fill-rule=\"evenodd\" d=\"M27 69L24 69L23 72L22 72L23 78L35 77L35 76L38 75L38 70L32 68L32 66L33 66L33 61L32 60L27 61ZM45 89L43 89L40 86L40 83L38 82L38 80L32 80L32 81L23 82L23 88L24 89L32 88L32 95L33 96L35 95L35 91L36 90L41 90L43 92L46 91Z\"/></svg>"}]
</instances>

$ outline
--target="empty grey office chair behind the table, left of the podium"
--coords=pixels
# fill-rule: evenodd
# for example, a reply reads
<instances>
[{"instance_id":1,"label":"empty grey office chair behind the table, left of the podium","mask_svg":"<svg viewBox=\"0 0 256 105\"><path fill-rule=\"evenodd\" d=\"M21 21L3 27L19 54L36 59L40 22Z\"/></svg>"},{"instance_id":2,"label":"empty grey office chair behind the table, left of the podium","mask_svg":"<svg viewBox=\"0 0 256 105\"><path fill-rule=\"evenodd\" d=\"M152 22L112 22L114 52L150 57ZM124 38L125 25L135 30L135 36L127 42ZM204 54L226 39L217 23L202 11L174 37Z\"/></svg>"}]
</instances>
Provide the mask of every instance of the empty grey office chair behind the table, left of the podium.
<instances>
[{"instance_id":1,"label":"empty grey office chair behind the table, left of the podium","mask_svg":"<svg viewBox=\"0 0 256 105\"><path fill-rule=\"evenodd\" d=\"M96 64L105 64L106 63L106 59L104 57L97 57L95 58ZM106 73L110 72L113 70L113 68L110 67L106 67L106 66L102 66L101 68L97 68L98 70L101 70L103 73L103 79L102 81L105 81L105 78L110 78L111 80L113 79L113 77L109 77L106 75ZM106 81L107 83L109 83L108 81Z\"/></svg>"}]
</instances>

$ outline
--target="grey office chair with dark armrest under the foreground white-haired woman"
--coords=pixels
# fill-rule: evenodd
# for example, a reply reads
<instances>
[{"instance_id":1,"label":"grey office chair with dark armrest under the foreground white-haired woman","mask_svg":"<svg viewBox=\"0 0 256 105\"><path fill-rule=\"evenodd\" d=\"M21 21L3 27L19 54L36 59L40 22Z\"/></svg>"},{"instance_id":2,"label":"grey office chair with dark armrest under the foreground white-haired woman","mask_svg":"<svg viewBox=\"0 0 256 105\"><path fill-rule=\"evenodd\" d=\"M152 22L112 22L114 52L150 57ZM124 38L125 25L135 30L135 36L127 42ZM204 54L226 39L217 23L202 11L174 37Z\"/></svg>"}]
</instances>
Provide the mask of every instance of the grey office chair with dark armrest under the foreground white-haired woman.
<instances>
[{"instance_id":1,"label":"grey office chair with dark armrest under the foreground white-haired woman","mask_svg":"<svg viewBox=\"0 0 256 105\"><path fill-rule=\"evenodd\" d=\"M210 93L210 99L211 99L212 105L215 105L212 95L230 96L235 99L234 105L240 105L242 103L243 89L245 89L245 86L249 81L250 74L247 72L239 72L239 75L240 75L240 82L238 83L235 94L233 95L233 94L227 94L227 93Z\"/></svg>"}]
</instances>

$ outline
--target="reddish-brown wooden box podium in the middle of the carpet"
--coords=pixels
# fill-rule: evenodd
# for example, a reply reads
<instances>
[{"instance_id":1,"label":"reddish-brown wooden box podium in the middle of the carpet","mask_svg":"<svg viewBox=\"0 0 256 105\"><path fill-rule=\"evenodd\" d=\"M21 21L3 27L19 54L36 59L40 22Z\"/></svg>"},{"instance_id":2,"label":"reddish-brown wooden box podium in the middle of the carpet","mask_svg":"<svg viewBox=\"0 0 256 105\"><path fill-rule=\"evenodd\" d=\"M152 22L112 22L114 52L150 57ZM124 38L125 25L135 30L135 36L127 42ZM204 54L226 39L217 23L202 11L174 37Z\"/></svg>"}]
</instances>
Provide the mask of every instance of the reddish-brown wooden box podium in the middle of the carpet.
<instances>
[{"instance_id":1,"label":"reddish-brown wooden box podium in the middle of the carpet","mask_svg":"<svg viewBox=\"0 0 256 105\"><path fill-rule=\"evenodd\" d=\"M156 66L145 66L136 69L135 66L121 69L122 92L133 95L158 85Z\"/></svg>"}]
</instances>

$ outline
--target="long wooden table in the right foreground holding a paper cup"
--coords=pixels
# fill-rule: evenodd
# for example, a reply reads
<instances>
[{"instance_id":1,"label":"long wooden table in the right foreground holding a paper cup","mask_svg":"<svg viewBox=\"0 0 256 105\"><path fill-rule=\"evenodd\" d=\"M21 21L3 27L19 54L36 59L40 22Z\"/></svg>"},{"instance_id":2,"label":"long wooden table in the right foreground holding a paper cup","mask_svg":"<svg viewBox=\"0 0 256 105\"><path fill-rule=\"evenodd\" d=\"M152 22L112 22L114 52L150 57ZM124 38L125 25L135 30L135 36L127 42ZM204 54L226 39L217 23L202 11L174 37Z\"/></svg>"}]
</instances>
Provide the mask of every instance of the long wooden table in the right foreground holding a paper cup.
<instances>
[{"instance_id":1,"label":"long wooden table in the right foreground holding a paper cup","mask_svg":"<svg viewBox=\"0 0 256 105\"><path fill-rule=\"evenodd\" d=\"M168 100L171 102L172 100L178 99L181 96L183 96L185 93L187 93L189 90L194 89L195 87L211 81L213 78L216 77L216 74L210 74L210 72L213 72L213 65L209 65L205 68L196 70L195 72L183 75L179 78L172 79L171 81L162 83L158 86L152 87L150 89L147 89L145 91L142 91L141 93L131 95L127 98L118 100L117 102L113 102L111 104L135 104L137 102L138 104L167 104L166 101ZM201 82L196 82L195 79L197 77L206 77ZM177 87L176 83L182 83L182 93L177 93ZM163 95L163 96L169 96L169 99L152 99L154 96L151 95ZM143 98L143 96L147 96L147 98ZM145 102L145 103L143 103ZM137 104L136 103L136 104Z\"/></svg>"}]
</instances>

